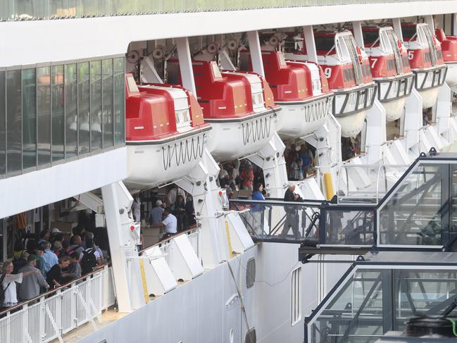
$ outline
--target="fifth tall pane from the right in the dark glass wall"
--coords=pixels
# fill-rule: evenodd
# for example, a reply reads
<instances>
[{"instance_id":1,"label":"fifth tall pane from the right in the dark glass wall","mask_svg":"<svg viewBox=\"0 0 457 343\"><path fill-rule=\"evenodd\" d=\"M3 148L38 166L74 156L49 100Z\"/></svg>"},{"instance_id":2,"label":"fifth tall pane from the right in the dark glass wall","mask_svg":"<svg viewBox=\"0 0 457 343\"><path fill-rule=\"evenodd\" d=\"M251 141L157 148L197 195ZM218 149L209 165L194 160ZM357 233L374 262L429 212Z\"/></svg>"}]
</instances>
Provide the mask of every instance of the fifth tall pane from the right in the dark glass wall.
<instances>
[{"instance_id":1,"label":"fifth tall pane from the right in the dark glass wall","mask_svg":"<svg viewBox=\"0 0 457 343\"><path fill-rule=\"evenodd\" d=\"M77 155L77 67L65 66L65 158Z\"/></svg>"}]
</instances>

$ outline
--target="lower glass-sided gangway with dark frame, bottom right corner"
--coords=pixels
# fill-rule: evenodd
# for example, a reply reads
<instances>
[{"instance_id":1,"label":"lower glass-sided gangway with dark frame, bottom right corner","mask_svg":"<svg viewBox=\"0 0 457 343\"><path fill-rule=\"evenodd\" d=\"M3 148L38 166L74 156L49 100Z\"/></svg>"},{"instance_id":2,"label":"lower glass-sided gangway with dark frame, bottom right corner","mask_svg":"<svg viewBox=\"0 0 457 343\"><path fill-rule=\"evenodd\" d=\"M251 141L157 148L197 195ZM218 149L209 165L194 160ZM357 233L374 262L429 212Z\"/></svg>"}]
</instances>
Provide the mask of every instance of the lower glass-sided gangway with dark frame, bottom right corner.
<instances>
[{"instance_id":1,"label":"lower glass-sided gangway with dark frame, bottom right corner","mask_svg":"<svg viewBox=\"0 0 457 343\"><path fill-rule=\"evenodd\" d=\"M388 331L404 330L407 318L441 315L455 301L456 285L455 252L359 256L305 318L304 342L376 342ZM449 316L456 314L453 310Z\"/></svg>"}]
</instances>

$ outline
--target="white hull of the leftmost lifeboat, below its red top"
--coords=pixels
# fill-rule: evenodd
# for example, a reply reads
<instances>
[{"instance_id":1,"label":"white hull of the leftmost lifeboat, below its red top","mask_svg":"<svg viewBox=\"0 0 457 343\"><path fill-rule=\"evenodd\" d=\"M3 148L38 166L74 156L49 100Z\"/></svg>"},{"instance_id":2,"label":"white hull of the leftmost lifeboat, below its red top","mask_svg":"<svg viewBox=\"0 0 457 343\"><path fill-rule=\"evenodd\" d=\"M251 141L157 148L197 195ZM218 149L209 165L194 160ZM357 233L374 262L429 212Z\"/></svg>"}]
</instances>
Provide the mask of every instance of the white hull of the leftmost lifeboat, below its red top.
<instances>
[{"instance_id":1,"label":"white hull of the leftmost lifeboat, below its red top","mask_svg":"<svg viewBox=\"0 0 457 343\"><path fill-rule=\"evenodd\" d=\"M127 141L125 185L131 192L189 174L201 161L211 127L151 141Z\"/></svg>"}]
</instances>

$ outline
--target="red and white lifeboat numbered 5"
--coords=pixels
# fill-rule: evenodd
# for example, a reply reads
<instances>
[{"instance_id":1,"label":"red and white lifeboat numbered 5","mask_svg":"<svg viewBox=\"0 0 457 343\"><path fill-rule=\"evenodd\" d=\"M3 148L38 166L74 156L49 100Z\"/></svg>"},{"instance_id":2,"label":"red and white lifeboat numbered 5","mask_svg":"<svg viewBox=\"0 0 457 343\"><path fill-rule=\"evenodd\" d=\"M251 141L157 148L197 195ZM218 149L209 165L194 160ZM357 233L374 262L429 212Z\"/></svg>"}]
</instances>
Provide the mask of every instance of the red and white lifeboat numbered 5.
<instances>
[{"instance_id":1,"label":"red and white lifeboat numbered 5","mask_svg":"<svg viewBox=\"0 0 457 343\"><path fill-rule=\"evenodd\" d=\"M425 23L401 23L401 31L422 107L430 108L437 102L439 86L446 77L441 44Z\"/></svg>"}]
</instances>

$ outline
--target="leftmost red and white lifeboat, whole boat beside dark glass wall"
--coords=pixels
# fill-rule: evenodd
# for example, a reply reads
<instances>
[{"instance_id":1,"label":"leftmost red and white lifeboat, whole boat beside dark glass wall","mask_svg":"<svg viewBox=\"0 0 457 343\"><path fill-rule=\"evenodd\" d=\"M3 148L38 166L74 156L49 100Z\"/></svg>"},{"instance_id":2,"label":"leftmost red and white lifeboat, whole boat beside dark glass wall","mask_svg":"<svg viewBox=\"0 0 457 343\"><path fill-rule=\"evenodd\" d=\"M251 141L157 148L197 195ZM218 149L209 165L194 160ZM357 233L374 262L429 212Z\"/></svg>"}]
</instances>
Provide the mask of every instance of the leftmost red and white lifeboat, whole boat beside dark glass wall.
<instances>
[{"instance_id":1,"label":"leftmost red and white lifeboat, whole boat beside dark glass wall","mask_svg":"<svg viewBox=\"0 0 457 343\"><path fill-rule=\"evenodd\" d=\"M125 75L125 126L130 190L187 175L201 161L211 125L192 93L179 86L137 85Z\"/></svg>"}]
</instances>

